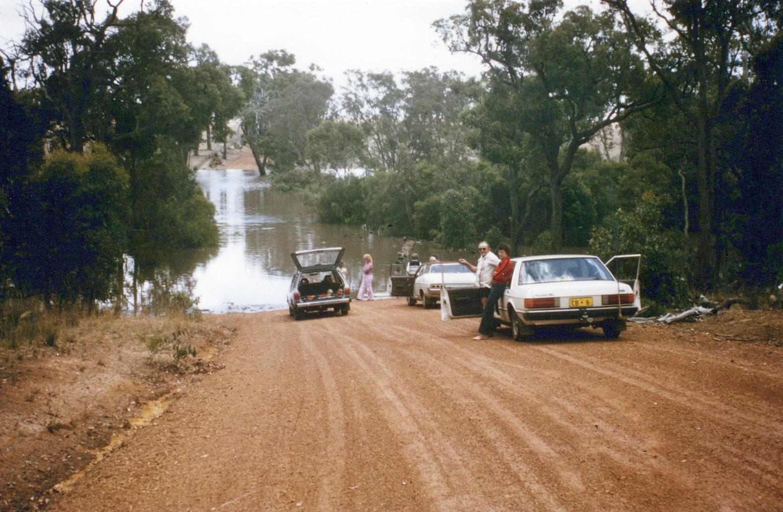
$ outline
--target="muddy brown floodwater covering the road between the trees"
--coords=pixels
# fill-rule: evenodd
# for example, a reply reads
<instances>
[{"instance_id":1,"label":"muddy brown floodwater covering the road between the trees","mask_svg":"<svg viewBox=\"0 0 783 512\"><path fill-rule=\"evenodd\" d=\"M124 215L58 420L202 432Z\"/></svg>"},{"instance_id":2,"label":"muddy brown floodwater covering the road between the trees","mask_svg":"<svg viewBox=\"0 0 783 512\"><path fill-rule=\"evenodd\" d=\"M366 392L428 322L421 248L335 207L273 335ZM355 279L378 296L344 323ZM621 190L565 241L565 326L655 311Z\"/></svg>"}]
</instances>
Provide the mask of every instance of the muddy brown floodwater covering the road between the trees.
<instances>
[{"instance_id":1,"label":"muddy brown floodwater covering the road between the trees","mask_svg":"<svg viewBox=\"0 0 783 512\"><path fill-rule=\"evenodd\" d=\"M258 171L235 169L197 171L197 182L215 204L220 229L218 248L178 251L165 263L146 265L132 289L132 265L126 279L128 308L147 307L171 290L198 297L198 308L209 312L258 312L287 308L286 294L295 267L290 253L317 247L345 247L352 296L359 290L363 255L372 254L373 291L388 296L390 265L402 247L402 237L383 236L352 225L318 222L314 208L292 193L269 187ZM475 259L470 251L446 251L421 241L414 251L421 259L438 254L442 261Z\"/></svg>"}]
</instances>

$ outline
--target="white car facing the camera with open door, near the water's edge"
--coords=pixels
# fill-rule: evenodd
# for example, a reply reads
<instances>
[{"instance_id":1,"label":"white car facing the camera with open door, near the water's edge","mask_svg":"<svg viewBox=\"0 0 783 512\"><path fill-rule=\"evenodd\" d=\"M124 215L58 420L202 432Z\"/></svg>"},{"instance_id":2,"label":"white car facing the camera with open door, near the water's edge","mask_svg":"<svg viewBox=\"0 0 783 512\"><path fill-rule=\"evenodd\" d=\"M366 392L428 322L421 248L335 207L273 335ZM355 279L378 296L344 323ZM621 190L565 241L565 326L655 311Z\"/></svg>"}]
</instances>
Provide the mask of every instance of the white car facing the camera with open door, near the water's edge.
<instances>
[{"instance_id":1,"label":"white car facing the camera with open door, near the water's edge","mask_svg":"<svg viewBox=\"0 0 783 512\"><path fill-rule=\"evenodd\" d=\"M424 308L434 306L440 300L441 290L471 288L476 276L461 263L436 261L421 265L413 276L405 272L404 265L391 265L391 296L408 297L409 305L421 301Z\"/></svg>"}]
</instances>

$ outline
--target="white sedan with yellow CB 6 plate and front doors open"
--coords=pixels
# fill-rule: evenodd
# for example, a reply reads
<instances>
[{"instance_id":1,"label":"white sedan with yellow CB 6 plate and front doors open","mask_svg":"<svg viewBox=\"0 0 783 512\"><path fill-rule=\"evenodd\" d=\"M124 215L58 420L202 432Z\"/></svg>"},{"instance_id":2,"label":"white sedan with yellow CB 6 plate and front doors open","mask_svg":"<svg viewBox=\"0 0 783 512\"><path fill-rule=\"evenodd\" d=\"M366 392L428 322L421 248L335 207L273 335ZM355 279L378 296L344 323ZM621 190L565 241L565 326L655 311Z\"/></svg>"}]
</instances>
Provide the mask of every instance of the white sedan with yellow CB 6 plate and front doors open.
<instances>
[{"instance_id":1,"label":"white sedan with yellow CB 6 plate and front doors open","mask_svg":"<svg viewBox=\"0 0 783 512\"><path fill-rule=\"evenodd\" d=\"M542 326L601 327L604 336L616 338L626 329L626 317L640 309L640 254L615 256L606 265L599 258L584 254L530 256L511 261L514 274L498 301L495 318L511 325L518 341L524 341ZM616 278L607 267L622 277ZM442 317L481 315L482 293L478 288L444 290Z\"/></svg>"}]
</instances>

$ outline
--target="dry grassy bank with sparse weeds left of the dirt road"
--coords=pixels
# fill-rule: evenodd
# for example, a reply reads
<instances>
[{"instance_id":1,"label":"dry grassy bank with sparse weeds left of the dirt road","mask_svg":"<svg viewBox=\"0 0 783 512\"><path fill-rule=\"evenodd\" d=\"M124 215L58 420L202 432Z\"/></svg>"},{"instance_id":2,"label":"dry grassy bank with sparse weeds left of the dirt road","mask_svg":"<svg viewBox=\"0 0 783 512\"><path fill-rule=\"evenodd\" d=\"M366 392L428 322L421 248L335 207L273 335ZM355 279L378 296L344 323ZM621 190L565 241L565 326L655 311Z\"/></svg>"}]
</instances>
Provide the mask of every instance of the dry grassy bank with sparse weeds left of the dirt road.
<instances>
[{"instance_id":1,"label":"dry grassy bank with sparse weeds left of the dirt road","mask_svg":"<svg viewBox=\"0 0 783 512\"><path fill-rule=\"evenodd\" d=\"M144 402L219 369L211 357L234 332L226 319L210 316L26 308L6 309L3 319L0 510L45 504L44 493L85 467Z\"/></svg>"}]
</instances>

